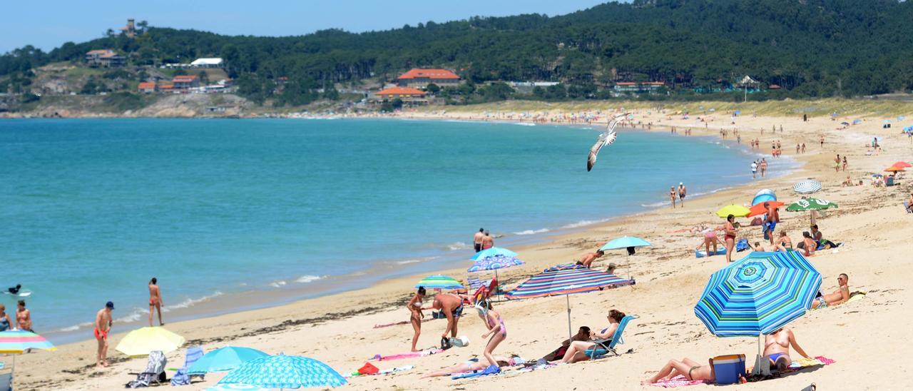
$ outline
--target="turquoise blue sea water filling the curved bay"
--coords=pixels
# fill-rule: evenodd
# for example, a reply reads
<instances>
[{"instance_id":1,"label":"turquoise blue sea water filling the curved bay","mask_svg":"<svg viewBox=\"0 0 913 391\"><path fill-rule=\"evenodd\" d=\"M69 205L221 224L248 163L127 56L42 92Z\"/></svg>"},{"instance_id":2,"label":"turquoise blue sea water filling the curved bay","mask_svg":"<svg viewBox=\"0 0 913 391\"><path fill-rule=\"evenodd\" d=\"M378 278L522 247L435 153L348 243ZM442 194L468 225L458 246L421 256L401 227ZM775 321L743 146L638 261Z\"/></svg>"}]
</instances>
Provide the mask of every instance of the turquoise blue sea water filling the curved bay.
<instances>
[{"instance_id":1,"label":"turquoise blue sea water filling the curved bay","mask_svg":"<svg viewBox=\"0 0 913 391\"><path fill-rule=\"evenodd\" d=\"M597 134L484 122L0 120L0 286L35 292L39 333L82 339L109 300L120 330L141 326L152 276L183 317L212 314L204 303L233 294L263 306L271 292L292 300L310 284L340 291L465 262L479 227L517 244L662 205L678 182L697 195L750 181L744 148L645 132L621 132L587 173Z\"/></svg>"}]
</instances>

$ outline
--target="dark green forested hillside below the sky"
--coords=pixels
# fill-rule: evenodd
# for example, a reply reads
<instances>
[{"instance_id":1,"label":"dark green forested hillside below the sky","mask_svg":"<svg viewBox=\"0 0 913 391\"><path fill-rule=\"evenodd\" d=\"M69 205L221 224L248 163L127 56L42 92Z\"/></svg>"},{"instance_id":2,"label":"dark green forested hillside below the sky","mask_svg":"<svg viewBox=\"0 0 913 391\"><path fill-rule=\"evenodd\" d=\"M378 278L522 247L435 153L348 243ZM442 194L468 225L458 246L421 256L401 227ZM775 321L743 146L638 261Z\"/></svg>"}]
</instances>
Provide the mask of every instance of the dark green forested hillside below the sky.
<instances>
[{"instance_id":1,"label":"dark green forested hillside below the sky","mask_svg":"<svg viewBox=\"0 0 913 391\"><path fill-rule=\"evenodd\" d=\"M148 27L135 38L68 42L0 57L0 78L114 48L134 65L222 57L242 93L263 100L278 77L290 102L333 83L394 79L412 67L454 69L471 83L561 81L596 98L616 81L664 81L673 94L728 87L744 75L779 96L913 88L913 5L897 0L636 0L565 16L475 17L353 34L228 37Z\"/></svg>"}]
</instances>

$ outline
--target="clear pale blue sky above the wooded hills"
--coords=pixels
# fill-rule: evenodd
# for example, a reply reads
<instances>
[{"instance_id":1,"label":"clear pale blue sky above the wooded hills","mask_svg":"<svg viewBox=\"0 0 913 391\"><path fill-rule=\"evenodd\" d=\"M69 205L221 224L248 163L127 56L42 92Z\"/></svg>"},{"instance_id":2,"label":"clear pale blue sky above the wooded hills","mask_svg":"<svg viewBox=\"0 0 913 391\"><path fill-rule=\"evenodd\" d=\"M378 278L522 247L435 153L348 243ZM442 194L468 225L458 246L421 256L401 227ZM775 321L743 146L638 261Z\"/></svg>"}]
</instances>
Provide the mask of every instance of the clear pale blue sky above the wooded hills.
<instances>
[{"instance_id":1,"label":"clear pale blue sky above the wooded hills","mask_svg":"<svg viewBox=\"0 0 913 391\"><path fill-rule=\"evenodd\" d=\"M117 30L132 17L150 26L225 35L294 36L326 28L352 32L446 22L470 16L568 14L608 0L22 0L4 1L0 53L32 45L43 50Z\"/></svg>"}]
</instances>

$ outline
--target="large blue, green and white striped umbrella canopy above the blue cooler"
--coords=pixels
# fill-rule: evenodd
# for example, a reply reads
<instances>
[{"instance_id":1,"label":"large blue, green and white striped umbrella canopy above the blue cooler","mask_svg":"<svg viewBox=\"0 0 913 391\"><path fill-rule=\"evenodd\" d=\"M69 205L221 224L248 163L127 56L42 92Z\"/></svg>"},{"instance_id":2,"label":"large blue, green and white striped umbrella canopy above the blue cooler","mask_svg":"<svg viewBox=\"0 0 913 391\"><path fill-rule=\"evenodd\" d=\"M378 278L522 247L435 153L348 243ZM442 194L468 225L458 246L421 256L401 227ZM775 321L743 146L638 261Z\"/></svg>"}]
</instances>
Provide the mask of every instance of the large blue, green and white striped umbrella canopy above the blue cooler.
<instances>
[{"instance_id":1,"label":"large blue, green and white striped umbrella canopy above the blue cooler","mask_svg":"<svg viewBox=\"0 0 913 391\"><path fill-rule=\"evenodd\" d=\"M819 288L802 254L755 251L710 276L694 313L717 336L769 334L811 309Z\"/></svg>"}]
</instances>

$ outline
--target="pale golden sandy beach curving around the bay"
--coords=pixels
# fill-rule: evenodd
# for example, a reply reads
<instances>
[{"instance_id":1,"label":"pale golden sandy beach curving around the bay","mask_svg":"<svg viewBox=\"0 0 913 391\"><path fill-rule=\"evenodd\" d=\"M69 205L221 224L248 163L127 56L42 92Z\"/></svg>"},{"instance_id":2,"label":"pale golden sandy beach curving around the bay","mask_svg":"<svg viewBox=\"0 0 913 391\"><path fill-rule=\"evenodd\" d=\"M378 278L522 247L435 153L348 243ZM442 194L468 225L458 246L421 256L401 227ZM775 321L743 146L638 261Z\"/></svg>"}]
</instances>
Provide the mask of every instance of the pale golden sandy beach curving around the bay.
<instances>
[{"instance_id":1,"label":"pale golden sandy beach curving around the bay","mask_svg":"<svg viewBox=\"0 0 913 391\"><path fill-rule=\"evenodd\" d=\"M569 113L541 111L546 121L566 119ZM699 233L687 232L699 224L711 227L722 219L713 213L720 206L747 204L762 188L770 188L782 201L799 198L792 192L796 182L813 178L824 185L814 196L837 203L818 218L825 238L845 242L840 248L818 252L810 258L821 271L824 291L834 291L836 277L849 275L851 291L866 291L865 298L838 306L809 312L792 322L798 342L810 355L824 355L835 361L816 369L803 370L781 378L733 386L752 389L802 389L815 383L818 389L904 389L902 379L906 369L900 363L906 358L903 343L907 322L911 319L908 306L913 291L907 291L908 277L913 275L913 258L907 251L908 238L913 235L913 215L908 215L901 202L908 199L907 178L895 187L870 185L872 173L881 173L897 161L913 160L913 143L900 134L899 127L882 128L877 115L837 117L816 115L803 122L802 116L743 115L730 118L729 113L708 113L707 122L696 122L703 113L689 118L668 110L666 112L635 109L637 130L651 123L650 131L670 132L692 128L693 135L719 135L720 129L739 129L742 144L757 138L761 152L771 160L771 142L782 141L782 151L802 166L792 173L774 179L758 179L750 185L718 193L688 198L686 206L669 206L634 216L619 217L608 223L587 227L580 232L554 237L548 242L512 248L526 265L499 272L501 287L512 289L519 282L546 267L578 259L607 240L623 235L646 238L651 248L642 248L630 258L630 273L637 281L634 288L620 288L572 295L572 326L587 325L593 329L605 327L605 315L617 309L639 317L628 325L624 344L619 345L618 357L593 362L559 365L530 373L487 376L467 380L449 377L423 379L422 375L449 365L480 357L486 331L474 312L459 322L459 334L467 335L472 343L452 348L442 354L390 362L372 362L384 369L415 365L414 369L393 375L359 376L350 379L342 389L466 389L484 386L486 389L654 389L640 386L641 380L653 375L669 359L689 357L706 363L708 357L721 354L746 354L748 364L754 362L757 340L752 338L719 338L694 315L694 305L703 291L708 276L725 265L723 256L696 259L694 248L702 241ZM500 112L494 117L471 108L466 111L415 111L400 117L416 119L529 121L519 112ZM860 124L837 130L839 123L864 118ZM604 115L600 116L604 121ZM735 123L732 123L735 122ZM706 127L705 127L706 123ZM782 125L783 132L771 133L771 126ZM765 131L761 134L761 129ZM624 137L621 132L620 137ZM734 140L731 132L729 140ZM818 138L824 135L824 146ZM877 136L883 150L867 155L866 143ZM806 144L806 153L795 153L797 143ZM603 153L611 153L604 150ZM846 156L846 172L834 173L834 154ZM700 156L695 156L700 159ZM674 164L674 163L670 163ZM598 167L598 166L597 166ZM744 167L719 167L720 174ZM777 173L773 173L777 174ZM864 185L842 187L849 175ZM675 185L675 184L668 184ZM687 184L686 184L687 185ZM802 231L808 229L807 213L781 212L779 227L790 232L798 242ZM746 222L747 219L740 219ZM684 231L684 232L683 232ZM468 232L471 235L472 232ZM740 238L761 241L760 227L743 227ZM745 253L734 256L740 259ZM468 257L468 254L467 254ZM610 252L594 263L595 269L605 269L610 262L620 265L616 270L625 277L623 251ZM454 265L440 270L457 279L466 280L467 265ZM484 275L483 275L484 276ZM206 351L226 346L248 346L269 354L296 354L317 358L341 373L358 369L374 354L400 354L409 350L412 327L409 324L375 329L375 324L407 321L405 302L411 288L423 276L384 280L367 289L349 291L318 299L297 301L288 305L226 314L188 322L173 322L169 330L184 335L188 345L202 344ZM430 302L430 297L426 303ZM499 301L495 308L502 314L509 329L507 340L498 346L496 354L519 354L524 359L539 358L558 347L567 337L564 297L539 298L522 301ZM430 318L430 312L426 312ZM426 319L428 319L426 318ZM444 321L423 324L419 346L438 343ZM117 332L117 324L114 325ZM87 336L89 336L87 334ZM23 354L16 358L16 389L115 389L122 388L134 378L128 373L142 370L145 359L129 359L114 351L122 333L110 338L112 365L104 370L94 368L95 341L69 343L57 352ZM167 354L168 367L184 363L184 350ZM8 357L5 357L8 361ZM173 375L172 372L169 376ZM194 382L185 389L214 386L222 374L206 375L205 381ZM704 389L708 386L693 386Z\"/></svg>"}]
</instances>

